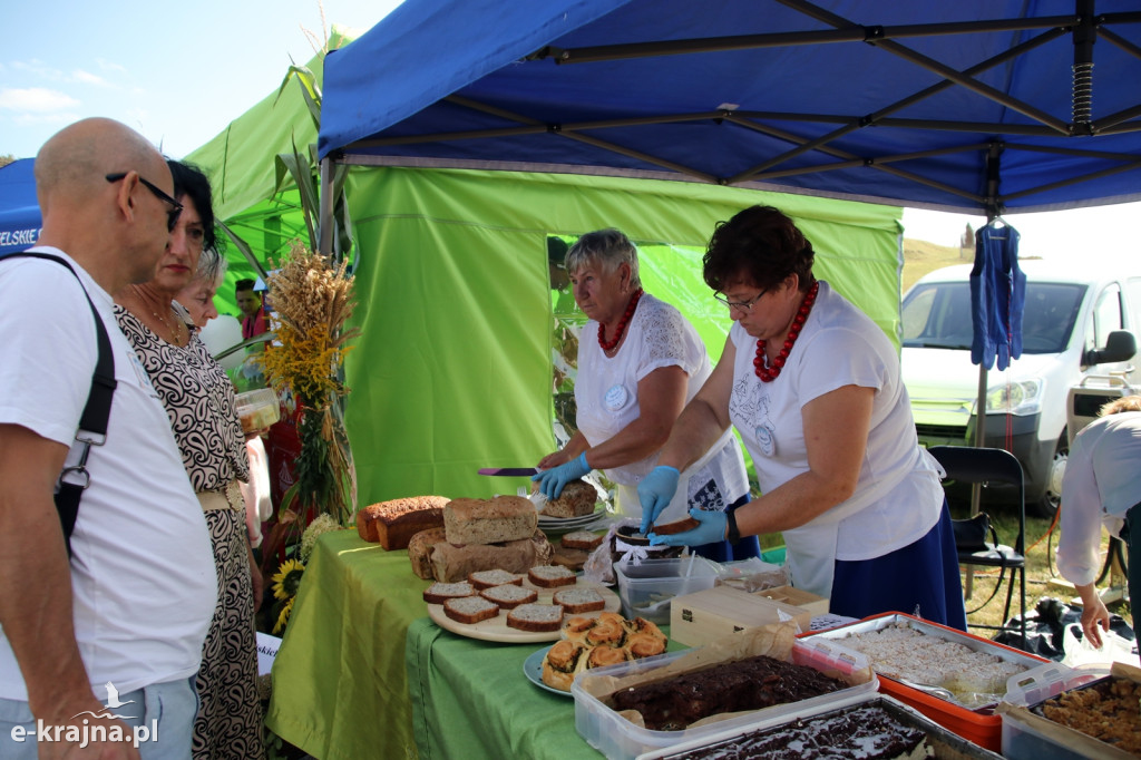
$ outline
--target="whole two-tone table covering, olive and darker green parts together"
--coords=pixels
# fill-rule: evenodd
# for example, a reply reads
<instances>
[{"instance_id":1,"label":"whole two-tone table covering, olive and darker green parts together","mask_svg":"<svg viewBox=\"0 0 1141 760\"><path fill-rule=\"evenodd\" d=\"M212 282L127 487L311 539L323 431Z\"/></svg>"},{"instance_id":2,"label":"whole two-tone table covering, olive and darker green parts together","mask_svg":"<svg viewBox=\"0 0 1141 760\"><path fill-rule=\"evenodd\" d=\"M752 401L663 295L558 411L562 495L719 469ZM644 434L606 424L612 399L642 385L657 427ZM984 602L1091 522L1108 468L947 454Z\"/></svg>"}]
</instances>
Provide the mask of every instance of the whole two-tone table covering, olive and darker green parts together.
<instances>
[{"instance_id":1,"label":"whole two-tone table covering, olive and darker green parts together","mask_svg":"<svg viewBox=\"0 0 1141 760\"><path fill-rule=\"evenodd\" d=\"M406 551L322 535L274 662L269 728L321 760L598 760L574 700L523 674L549 645L444 631L426 615L428 584Z\"/></svg>"}]
</instances>

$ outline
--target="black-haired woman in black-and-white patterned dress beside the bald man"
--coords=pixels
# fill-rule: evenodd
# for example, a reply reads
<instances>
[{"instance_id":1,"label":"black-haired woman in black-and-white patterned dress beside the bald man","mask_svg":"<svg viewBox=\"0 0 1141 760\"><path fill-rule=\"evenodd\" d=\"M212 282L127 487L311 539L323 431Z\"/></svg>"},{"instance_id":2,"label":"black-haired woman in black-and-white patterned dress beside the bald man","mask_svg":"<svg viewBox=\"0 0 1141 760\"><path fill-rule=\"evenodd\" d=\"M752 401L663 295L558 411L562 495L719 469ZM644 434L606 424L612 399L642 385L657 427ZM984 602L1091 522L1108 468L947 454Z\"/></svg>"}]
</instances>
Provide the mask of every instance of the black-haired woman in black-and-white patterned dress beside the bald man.
<instances>
[{"instance_id":1,"label":"black-haired woman in black-and-white patterned dress beside the bald man","mask_svg":"<svg viewBox=\"0 0 1141 760\"><path fill-rule=\"evenodd\" d=\"M184 477L197 494L213 547L218 604L197 674L194 757L264 758L253 626L261 575L246 539L240 485L250 478L245 437L229 378L175 301L194 278L202 251L216 244L210 183L188 164L169 163L183 213L153 276L115 296L115 317L167 407Z\"/></svg>"}]
</instances>

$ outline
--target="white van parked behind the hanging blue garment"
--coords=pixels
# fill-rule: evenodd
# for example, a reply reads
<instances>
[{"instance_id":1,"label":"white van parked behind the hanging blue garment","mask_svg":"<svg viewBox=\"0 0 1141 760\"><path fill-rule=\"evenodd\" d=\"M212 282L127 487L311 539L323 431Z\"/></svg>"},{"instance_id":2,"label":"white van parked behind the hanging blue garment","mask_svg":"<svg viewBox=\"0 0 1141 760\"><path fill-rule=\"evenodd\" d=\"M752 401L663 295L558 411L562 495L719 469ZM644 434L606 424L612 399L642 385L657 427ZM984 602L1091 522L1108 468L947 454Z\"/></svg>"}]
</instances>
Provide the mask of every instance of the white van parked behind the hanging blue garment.
<instances>
[{"instance_id":1,"label":"white van parked behind the hanging blue garment","mask_svg":"<svg viewBox=\"0 0 1141 760\"><path fill-rule=\"evenodd\" d=\"M1022 355L987 373L986 446L1006 448L1026 472L1027 509L1052 516L1069 440L1067 397L1089 375L1141 382L1141 274L1022 260ZM932 272L904 296L903 373L920 440L974 444L979 367L971 364L971 266Z\"/></svg>"}]
</instances>

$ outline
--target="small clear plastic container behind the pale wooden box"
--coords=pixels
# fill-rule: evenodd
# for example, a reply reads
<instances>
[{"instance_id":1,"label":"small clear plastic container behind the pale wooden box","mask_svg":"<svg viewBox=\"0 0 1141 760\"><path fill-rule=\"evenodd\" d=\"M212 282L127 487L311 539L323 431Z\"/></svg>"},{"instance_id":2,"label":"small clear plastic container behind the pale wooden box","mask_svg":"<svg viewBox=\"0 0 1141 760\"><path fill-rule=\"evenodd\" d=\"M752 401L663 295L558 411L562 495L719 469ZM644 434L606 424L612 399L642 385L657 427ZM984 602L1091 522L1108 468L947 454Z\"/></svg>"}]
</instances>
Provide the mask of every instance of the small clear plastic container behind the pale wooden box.
<instances>
[{"instance_id":1,"label":"small clear plastic container behind the pale wooden box","mask_svg":"<svg viewBox=\"0 0 1141 760\"><path fill-rule=\"evenodd\" d=\"M677 559L644 559L639 565L618 563L614 566L614 574L618 579L622 614L667 624L670 599L712 589L717 573L712 563L697 555Z\"/></svg>"}]
</instances>

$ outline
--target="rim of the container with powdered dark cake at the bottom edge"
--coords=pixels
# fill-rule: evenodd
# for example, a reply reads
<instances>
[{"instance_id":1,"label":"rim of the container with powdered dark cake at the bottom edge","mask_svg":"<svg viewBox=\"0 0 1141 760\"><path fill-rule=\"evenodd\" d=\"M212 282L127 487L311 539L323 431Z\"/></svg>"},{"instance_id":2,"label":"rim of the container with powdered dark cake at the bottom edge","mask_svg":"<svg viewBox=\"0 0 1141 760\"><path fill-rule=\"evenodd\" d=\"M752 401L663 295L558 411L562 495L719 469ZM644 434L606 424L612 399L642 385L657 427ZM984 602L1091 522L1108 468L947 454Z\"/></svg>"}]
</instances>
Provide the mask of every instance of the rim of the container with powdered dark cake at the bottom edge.
<instances>
[{"instance_id":1,"label":"rim of the container with powdered dark cake at the bottom edge","mask_svg":"<svg viewBox=\"0 0 1141 760\"><path fill-rule=\"evenodd\" d=\"M764 720L754 726L744 726L741 728L721 730L709 737L690 739L665 750L656 750L654 752L640 754L638 755L638 760L670 760L671 758L680 758L690 752L695 754L705 753L710 758L714 758L718 757L718 751L725 751L729 757L735 757L733 755L733 751L736 749L741 738L746 734L779 730L795 720L827 719L835 715L842 715L843 713L851 712L863 706L881 708L904 726L907 726L908 728L916 728L926 734L928 744L934 750L936 758L952 757L960 760L1000 760L1001 758L1001 755L989 750L985 750L973 742L968 742L962 736L948 731L942 726L925 718L917 710L908 708L898 700L880 694L872 694L866 695L859 702L853 704L837 708L835 710L827 710L816 715L784 715L771 720Z\"/></svg>"}]
</instances>

